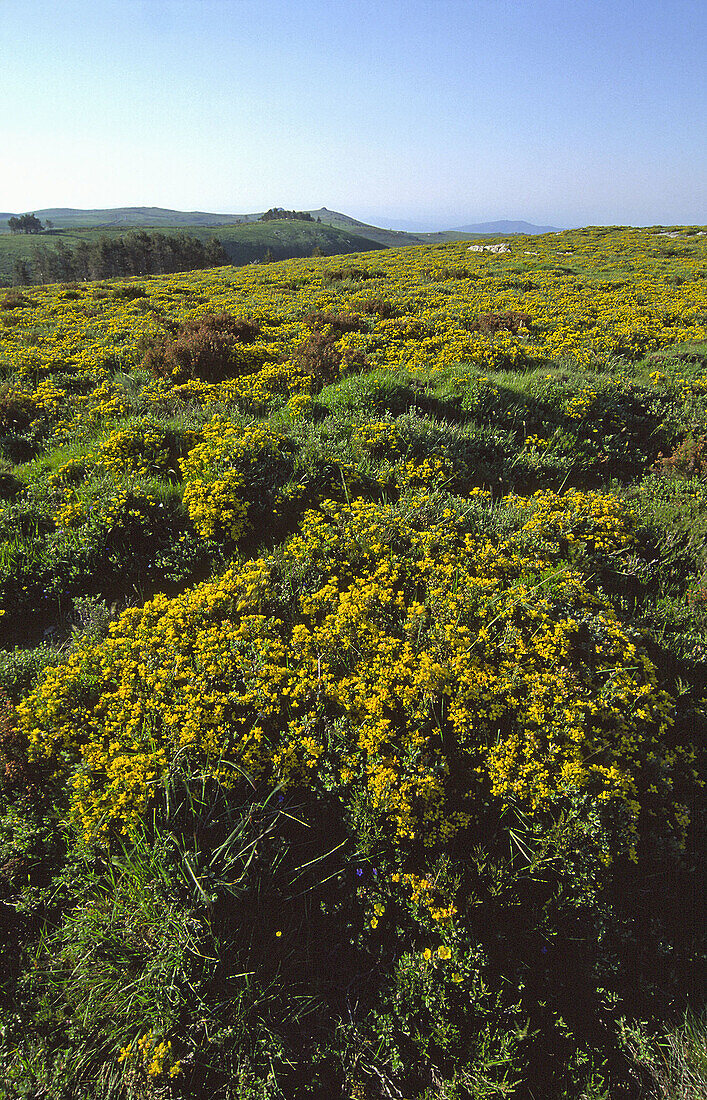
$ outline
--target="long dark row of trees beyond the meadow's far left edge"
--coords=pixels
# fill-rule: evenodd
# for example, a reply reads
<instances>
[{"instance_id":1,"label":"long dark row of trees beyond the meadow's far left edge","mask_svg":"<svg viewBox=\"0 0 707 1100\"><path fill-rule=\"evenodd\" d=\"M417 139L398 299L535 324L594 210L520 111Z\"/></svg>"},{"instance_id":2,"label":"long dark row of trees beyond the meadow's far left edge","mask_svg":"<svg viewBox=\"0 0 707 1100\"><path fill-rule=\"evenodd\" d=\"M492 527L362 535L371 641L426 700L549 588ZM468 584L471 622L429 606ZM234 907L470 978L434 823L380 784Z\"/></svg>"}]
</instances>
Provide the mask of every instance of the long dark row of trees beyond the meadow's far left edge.
<instances>
[{"instance_id":1,"label":"long dark row of trees beyond the meadow's far left edge","mask_svg":"<svg viewBox=\"0 0 707 1100\"><path fill-rule=\"evenodd\" d=\"M79 241L70 249L57 240L53 248L37 244L32 260L15 262L15 283L67 283L130 275L167 275L170 272L220 267L229 257L217 238L200 241L187 233L147 233L137 230L124 237L99 237Z\"/></svg>"}]
</instances>

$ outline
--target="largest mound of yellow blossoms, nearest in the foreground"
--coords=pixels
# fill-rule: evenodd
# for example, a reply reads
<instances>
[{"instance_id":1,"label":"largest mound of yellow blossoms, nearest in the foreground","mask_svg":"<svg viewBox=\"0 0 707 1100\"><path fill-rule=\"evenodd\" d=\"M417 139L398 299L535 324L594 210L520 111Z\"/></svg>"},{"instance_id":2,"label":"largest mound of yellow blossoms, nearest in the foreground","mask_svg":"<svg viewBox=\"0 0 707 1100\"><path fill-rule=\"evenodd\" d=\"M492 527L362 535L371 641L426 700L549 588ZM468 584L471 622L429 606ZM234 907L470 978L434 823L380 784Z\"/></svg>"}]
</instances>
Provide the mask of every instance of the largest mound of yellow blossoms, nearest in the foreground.
<instances>
[{"instance_id":1,"label":"largest mound of yellow blossoms, nearest in the foreground","mask_svg":"<svg viewBox=\"0 0 707 1100\"><path fill-rule=\"evenodd\" d=\"M426 494L324 505L280 556L132 608L47 670L20 721L33 757L66 770L87 838L130 831L186 752L230 782L363 784L402 846L445 843L485 796L554 813L584 794L621 807L616 850L631 846L671 700L560 550L573 530L603 544L608 522L628 544L630 517L599 494L540 494L490 540L426 509ZM278 609L283 570L302 581Z\"/></svg>"}]
</instances>

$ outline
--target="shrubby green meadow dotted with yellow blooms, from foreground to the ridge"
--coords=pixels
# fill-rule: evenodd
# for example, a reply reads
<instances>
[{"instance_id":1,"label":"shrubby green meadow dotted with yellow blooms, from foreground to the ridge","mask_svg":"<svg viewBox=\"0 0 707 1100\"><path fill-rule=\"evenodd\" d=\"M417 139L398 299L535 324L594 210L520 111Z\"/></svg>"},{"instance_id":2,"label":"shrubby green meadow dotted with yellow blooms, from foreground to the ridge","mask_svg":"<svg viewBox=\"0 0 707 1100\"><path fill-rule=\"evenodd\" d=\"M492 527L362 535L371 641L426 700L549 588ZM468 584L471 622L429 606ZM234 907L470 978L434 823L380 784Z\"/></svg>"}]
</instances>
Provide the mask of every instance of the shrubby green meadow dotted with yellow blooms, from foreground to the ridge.
<instances>
[{"instance_id":1,"label":"shrubby green meadow dotted with yellow blooms, from foreground to the ridge","mask_svg":"<svg viewBox=\"0 0 707 1100\"><path fill-rule=\"evenodd\" d=\"M0 292L0 1097L704 1100L706 241Z\"/></svg>"}]
</instances>

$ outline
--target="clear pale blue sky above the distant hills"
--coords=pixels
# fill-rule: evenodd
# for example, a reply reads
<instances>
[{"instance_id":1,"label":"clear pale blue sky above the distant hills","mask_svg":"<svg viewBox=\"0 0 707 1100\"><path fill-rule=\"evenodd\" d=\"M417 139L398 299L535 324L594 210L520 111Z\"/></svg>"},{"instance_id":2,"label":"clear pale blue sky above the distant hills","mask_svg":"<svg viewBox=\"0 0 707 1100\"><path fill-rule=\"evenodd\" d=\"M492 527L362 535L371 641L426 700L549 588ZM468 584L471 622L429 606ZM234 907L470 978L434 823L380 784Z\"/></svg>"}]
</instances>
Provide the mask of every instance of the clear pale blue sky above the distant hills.
<instances>
[{"instance_id":1,"label":"clear pale blue sky above the distant hills","mask_svg":"<svg viewBox=\"0 0 707 1100\"><path fill-rule=\"evenodd\" d=\"M0 211L707 222L705 0L0 0Z\"/></svg>"}]
</instances>

